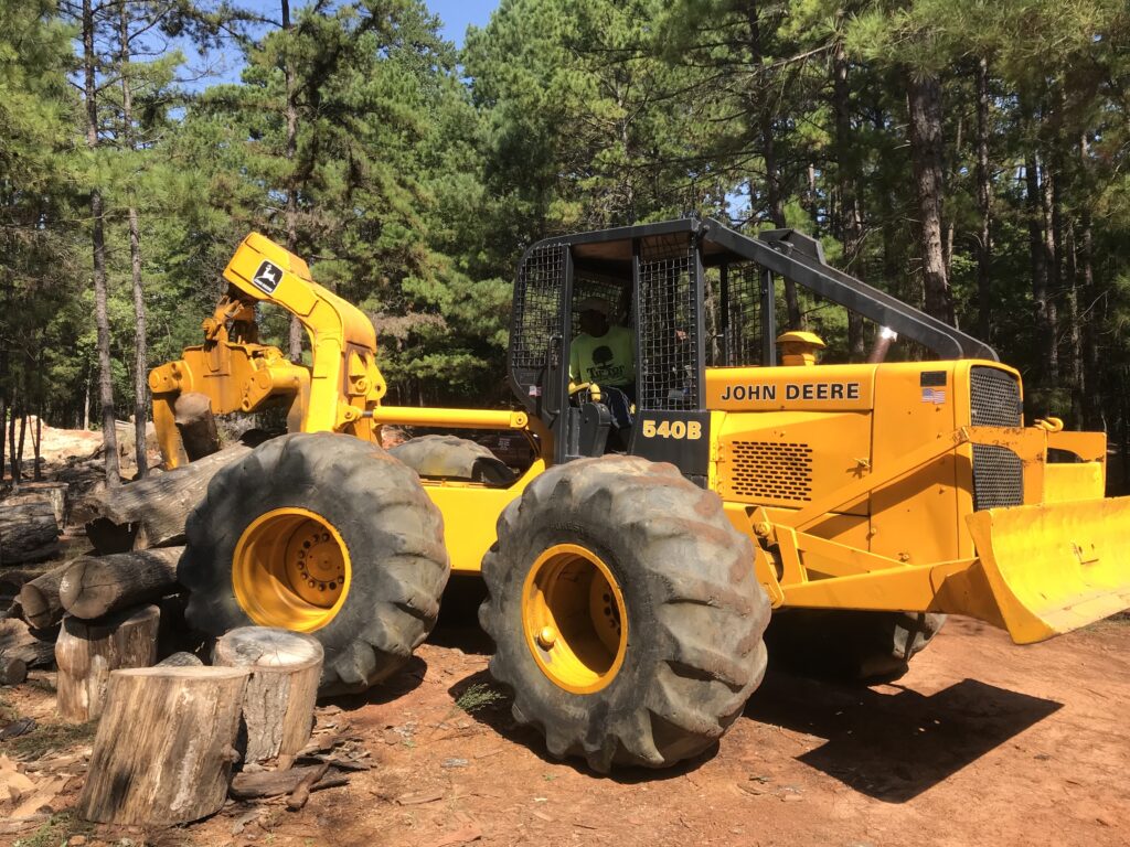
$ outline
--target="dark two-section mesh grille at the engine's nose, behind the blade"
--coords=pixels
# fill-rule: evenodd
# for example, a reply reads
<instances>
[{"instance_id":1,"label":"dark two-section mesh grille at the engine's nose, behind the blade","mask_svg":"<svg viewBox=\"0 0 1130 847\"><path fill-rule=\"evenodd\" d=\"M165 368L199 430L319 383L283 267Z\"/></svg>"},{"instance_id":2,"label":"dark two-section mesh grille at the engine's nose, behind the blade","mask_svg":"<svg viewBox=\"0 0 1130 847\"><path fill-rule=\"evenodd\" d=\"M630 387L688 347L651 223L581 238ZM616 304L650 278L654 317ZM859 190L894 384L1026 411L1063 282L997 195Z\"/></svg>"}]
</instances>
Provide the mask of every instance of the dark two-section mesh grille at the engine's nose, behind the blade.
<instances>
[{"instance_id":1,"label":"dark two-section mesh grille at the engine's nose, behind the blade","mask_svg":"<svg viewBox=\"0 0 1130 847\"><path fill-rule=\"evenodd\" d=\"M1020 386L1005 370L975 367L970 372L970 419L980 427L1020 427L1024 413ZM1024 503L1024 468L1006 447L973 445L973 508L1019 506Z\"/></svg>"}]
</instances>

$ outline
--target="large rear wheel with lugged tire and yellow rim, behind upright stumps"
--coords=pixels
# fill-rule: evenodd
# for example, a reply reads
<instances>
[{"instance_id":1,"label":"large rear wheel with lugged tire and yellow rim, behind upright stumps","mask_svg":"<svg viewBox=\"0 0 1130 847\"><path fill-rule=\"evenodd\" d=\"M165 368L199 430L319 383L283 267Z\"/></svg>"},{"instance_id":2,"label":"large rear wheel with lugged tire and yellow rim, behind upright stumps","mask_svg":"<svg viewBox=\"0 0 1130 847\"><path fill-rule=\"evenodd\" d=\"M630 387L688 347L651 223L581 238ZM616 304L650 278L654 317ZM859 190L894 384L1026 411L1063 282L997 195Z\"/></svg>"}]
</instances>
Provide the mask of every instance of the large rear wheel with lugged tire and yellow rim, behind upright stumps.
<instances>
[{"instance_id":1,"label":"large rear wheel with lugged tire and yellow rim, behind upright stumps","mask_svg":"<svg viewBox=\"0 0 1130 847\"><path fill-rule=\"evenodd\" d=\"M216 474L189 516L177 579L189 623L258 623L325 650L320 692L388 679L431 632L450 565L440 510L381 447L330 433L275 438Z\"/></svg>"}]
</instances>

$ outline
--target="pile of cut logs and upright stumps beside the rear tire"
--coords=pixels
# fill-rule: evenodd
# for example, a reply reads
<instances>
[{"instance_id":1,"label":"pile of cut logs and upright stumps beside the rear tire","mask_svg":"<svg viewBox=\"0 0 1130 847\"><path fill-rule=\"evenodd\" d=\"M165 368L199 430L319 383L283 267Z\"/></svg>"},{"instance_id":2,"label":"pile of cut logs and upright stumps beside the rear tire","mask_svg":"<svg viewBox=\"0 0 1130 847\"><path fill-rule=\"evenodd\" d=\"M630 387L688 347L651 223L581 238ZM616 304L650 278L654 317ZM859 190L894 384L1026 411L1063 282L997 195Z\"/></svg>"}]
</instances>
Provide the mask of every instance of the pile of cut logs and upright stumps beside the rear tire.
<instances>
[{"instance_id":1,"label":"pile of cut logs and upright stumps beside the rear tire","mask_svg":"<svg viewBox=\"0 0 1130 847\"><path fill-rule=\"evenodd\" d=\"M183 469L98 489L86 504L69 503L66 484L0 503L3 564L54 555L68 514L89 517L90 553L0 574L16 599L7 618L0 611L0 684L54 663L59 715L99 722L77 806L89 821L181 824L229 796L285 794L298 810L346 779L307 743L323 661L313 637L245 627L216 643L210 666L184 652L157 662L183 639L176 567L188 515L215 473L252 448L215 452L199 398L177 404L176 422L197 460Z\"/></svg>"}]
</instances>

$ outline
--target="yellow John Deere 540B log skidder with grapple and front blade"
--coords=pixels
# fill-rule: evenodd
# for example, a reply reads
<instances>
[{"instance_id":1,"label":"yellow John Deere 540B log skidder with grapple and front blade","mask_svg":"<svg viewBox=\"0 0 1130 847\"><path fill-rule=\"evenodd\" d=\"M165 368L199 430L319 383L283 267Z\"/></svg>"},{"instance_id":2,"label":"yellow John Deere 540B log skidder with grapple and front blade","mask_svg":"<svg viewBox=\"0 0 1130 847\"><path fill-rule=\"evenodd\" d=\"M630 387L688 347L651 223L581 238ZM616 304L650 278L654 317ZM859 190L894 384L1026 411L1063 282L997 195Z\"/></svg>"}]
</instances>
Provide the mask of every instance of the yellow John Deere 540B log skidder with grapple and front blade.
<instances>
[{"instance_id":1,"label":"yellow John Deere 540B log skidder with grapple and front blade","mask_svg":"<svg viewBox=\"0 0 1130 847\"><path fill-rule=\"evenodd\" d=\"M785 648L807 639L867 669L905 662L947 612L1026 644L1130 605L1130 498L1103 499L1105 437L1025 426L1020 377L989 347L796 232L692 219L534 245L502 411L382 403L370 321L262 236L224 276L203 343L150 375L166 462L183 462L184 392L218 413L284 405L290 434L221 471L192 514L189 615L215 634L312 632L325 691L389 676L449 573L481 571L515 717L598 770L662 767L741 713L771 609L792 621ZM777 364L782 278L937 359L817 365L818 341L789 334ZM594 297L634 332L629 426L608 391L570 379ZM311 367L258 342L259 303L302 321ZM450 435L390 454L386 424L508 430L534 459L511 473Z\"/></svg>"}]
</instances>

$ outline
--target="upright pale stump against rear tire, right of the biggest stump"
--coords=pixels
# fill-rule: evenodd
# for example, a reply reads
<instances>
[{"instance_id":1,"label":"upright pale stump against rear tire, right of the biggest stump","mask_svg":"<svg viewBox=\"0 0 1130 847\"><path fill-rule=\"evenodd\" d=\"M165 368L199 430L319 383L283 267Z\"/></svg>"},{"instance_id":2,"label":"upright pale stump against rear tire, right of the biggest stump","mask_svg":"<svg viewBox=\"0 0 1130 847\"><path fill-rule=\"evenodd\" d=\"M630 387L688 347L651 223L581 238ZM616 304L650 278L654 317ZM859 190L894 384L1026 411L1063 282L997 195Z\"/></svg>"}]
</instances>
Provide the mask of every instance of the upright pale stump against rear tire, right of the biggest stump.
<instances>
[{"instance_id":1,"label":"upright pale stump against rear tire, right of the biggest stump","mask_svg":"<svg viewBox=\"0 0 1130 847\"><path fill-rule=\"evenodd\" d=\"M301 632L240 627L216 641L212 663L251 670L243 704L244 761L278 757L293 762L314 726L322 645Z\"/></svg>"}]
</instances>

